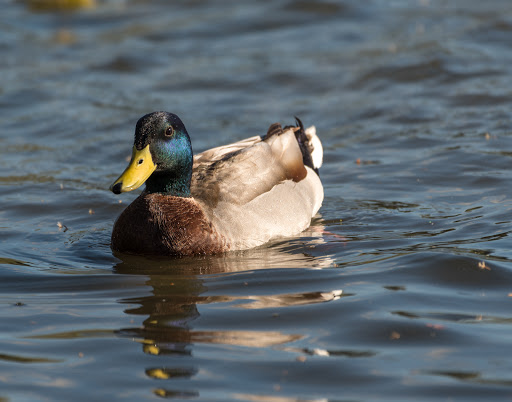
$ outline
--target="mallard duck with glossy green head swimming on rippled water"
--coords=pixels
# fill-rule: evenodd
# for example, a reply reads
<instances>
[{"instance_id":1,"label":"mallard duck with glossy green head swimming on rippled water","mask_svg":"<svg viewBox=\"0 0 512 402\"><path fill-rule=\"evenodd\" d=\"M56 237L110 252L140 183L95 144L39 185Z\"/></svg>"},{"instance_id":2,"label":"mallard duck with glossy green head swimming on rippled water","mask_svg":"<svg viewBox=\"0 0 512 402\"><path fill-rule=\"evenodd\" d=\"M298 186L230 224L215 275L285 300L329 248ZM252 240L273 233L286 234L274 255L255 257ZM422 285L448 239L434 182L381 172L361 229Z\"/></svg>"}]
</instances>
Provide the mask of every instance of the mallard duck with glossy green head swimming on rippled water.
<instances>
[{"instance_id":1,"label":"mallard duck with glossy green head swimming on rippled water","mask_svg":"<svg viewBox=\"0 0 512 402\"><path fill-rule=\"evenodd\" d=\"M115 194L145 190L119 216L112 249L146 255L215 254L259 246L306 229L323 201L322 144L314 127L270 126L193 156L178 116L139 119Z\"/></svg>"}]
</instances>

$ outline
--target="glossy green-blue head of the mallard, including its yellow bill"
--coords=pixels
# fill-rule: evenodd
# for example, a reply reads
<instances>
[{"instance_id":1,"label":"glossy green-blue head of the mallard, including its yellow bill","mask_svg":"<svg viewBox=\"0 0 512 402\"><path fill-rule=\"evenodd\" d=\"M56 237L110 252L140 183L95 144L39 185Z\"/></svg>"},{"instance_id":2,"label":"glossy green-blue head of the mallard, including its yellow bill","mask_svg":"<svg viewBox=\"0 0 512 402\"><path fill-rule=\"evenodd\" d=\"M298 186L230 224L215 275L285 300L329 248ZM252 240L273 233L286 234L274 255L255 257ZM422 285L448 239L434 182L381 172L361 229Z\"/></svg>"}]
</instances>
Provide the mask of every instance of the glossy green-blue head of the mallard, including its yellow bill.
<instances>
[{"instance_id":1,"label":"glossy green-blue head of the mallard, including its yellow bill","mask_svg":"<svg viewBox=\"0 0 512 402\"><path fill-rule=\"evenodd\" d=\"M132 159L110 186L114 194L132 191L146 183L146 191L181 197L190 196L192 145L178 116L153 112L135 126Z\"/></svg>"}]
</instances>

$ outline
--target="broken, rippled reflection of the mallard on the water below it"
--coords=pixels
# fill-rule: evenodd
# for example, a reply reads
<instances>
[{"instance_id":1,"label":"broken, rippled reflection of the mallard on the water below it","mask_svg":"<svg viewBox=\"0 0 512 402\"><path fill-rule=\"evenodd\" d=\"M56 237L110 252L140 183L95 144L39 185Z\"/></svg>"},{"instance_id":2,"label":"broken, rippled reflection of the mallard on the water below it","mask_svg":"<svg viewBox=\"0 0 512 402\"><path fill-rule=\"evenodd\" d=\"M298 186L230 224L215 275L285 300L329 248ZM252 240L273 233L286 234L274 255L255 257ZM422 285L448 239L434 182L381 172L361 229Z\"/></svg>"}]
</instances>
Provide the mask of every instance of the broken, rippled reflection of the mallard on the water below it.
<instances>
[{"instance_id":1,"label":"broken, rippled reflection of the mallard on the water below it","mask_svg":"<svg viewBox=\"0 0 512 402\"><path fill-rule=\"evenodd\" d=\"M291 247L293 248L293 247ZM269 295L244 294L240 292L243 281L226 293L231 295L208 294L208 281L212 277L206 274L240 272L269 267L315 268L331 266L328 258L315 258L301 252L282 247L270 247L222 256L196 258L145 258L117 255L121 262L115 266L120 274L143 274L148 276L146 284L151 294L136 298L126 298L120 303L130 305L127 314L143 316L140 327L125 328L120 336L129 336L139 343L146 354L166 356L160 366L147 367L147 376L159 380L183 380L194 377L199 368L193 363L195 345L223 344L250 348L278 347L300 340L300 333L282 333L275 330L233 330L232 328L208 330L204 324L194 325L200 317L198 306L215 303L229 303L229 309L264 309L304 304L322 303L336 300L342 296L341 290L328 290L307 293L282 293ZM236 279L236 278L235 278ZM217 293L217 292L216 292ZM249 291L247 291L249 293ZM135 305L135 307L133 307ZM201 314L208 314L204 309ZM211 310L210 310L211 311ZM229 310L227 311L229 313ZM221 325L221 324L220 324ZM176 359L173 359L173 356ZM185 359L182 359L185 357ZM188 364L187 364L188 363ZM177 385L177 383L175 383ZM165 397L193 397L196 391L179 391L158 388L154 392Z\"/></svg>"}]
</instances>

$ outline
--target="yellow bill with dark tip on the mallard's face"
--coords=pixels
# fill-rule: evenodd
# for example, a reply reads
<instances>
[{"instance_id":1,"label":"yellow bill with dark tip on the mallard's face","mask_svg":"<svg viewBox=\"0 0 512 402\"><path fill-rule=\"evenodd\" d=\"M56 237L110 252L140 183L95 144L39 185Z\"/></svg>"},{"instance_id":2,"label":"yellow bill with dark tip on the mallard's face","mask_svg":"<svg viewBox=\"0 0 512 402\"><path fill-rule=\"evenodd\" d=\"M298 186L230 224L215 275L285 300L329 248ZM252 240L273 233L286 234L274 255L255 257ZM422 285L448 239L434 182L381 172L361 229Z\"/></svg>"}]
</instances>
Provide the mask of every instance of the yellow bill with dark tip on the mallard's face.
<instances>
[{"instance_id":1,"label":"yellow bill with dark tip on the mallard's face","mask_svg":"<svg viewBox=\"0 0 512 402\"><path fill-rule=\"evenodd\" d=\"M144 184L155 169L156 165L153 163L153 158L151 158L149 145L140 151L134 146L130 164L123 174L110 186L110 191L114 194L121 194L135 190Z\"/></svg>"}]
</instances>

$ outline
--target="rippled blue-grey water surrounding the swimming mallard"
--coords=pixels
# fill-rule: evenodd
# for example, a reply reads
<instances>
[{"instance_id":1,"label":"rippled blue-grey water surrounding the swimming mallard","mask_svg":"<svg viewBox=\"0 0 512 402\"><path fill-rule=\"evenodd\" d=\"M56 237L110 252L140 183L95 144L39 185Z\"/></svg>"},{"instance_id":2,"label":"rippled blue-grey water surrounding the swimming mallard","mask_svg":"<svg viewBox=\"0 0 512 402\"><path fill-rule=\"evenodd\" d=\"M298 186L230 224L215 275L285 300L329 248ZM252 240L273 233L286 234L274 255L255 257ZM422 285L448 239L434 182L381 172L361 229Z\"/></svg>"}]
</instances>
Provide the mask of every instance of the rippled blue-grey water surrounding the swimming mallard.
<instances>
[{"instance_id":1,"label":"rippled blue-grey water surrounding the swimming mallard","mask_svg":"<svg viewBox=\"0 0 512 402\"><path fill-rule=\"evenodd\" d=\"M508 0L84 3L0 16L0 400L511 399ZM154 110L315 124L312 227L113 255Z\"/></svg>"}]
</instances>

